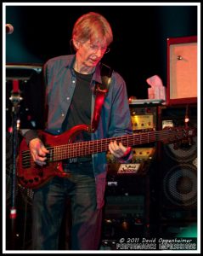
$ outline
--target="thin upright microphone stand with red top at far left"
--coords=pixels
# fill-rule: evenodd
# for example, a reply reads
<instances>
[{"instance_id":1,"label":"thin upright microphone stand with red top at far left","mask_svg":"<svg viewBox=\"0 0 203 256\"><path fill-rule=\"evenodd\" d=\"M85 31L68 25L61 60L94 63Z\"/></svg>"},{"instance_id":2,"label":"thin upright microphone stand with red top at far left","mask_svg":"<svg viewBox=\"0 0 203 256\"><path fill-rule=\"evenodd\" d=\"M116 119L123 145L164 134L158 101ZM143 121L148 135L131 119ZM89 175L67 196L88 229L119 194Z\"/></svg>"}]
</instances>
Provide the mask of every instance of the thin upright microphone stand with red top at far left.
<instances>
[{"instance_id":1,"label":"thin upright microphone stand with red top at far left","mask_svg":"<svg viewBox=\"0 0 203 256\"><path fill-rule=\"evenodd\" d=\"M16 156L18 148L18 132L20 130L20 119L19 109L20 101L22 97L20 96L19 90L19 80L13 80L13 90L11 91L11 96L9 100L13 103L12 107L12 140L13 140L13 172L11 178L11 207L9 218L11 220L11 248L15 248L15 231L16 231L16 217L17 210L15 207L15 192L16 192Z\"/></svg>"}]
</instances>

